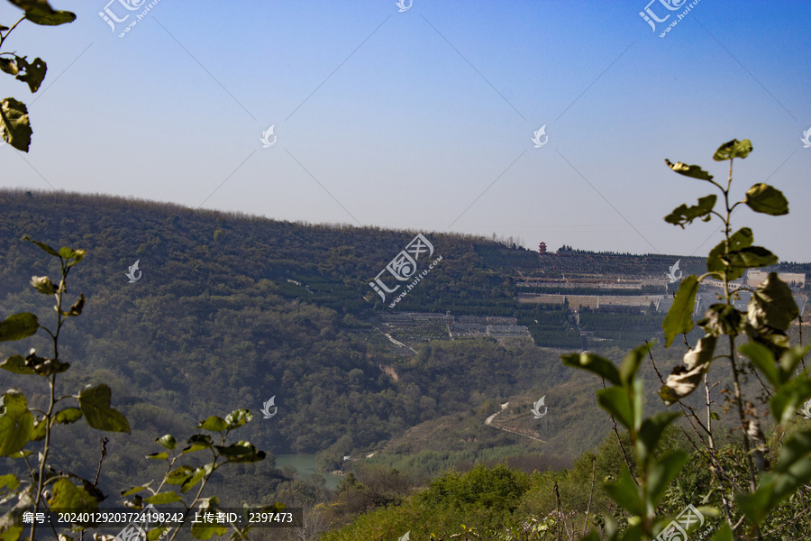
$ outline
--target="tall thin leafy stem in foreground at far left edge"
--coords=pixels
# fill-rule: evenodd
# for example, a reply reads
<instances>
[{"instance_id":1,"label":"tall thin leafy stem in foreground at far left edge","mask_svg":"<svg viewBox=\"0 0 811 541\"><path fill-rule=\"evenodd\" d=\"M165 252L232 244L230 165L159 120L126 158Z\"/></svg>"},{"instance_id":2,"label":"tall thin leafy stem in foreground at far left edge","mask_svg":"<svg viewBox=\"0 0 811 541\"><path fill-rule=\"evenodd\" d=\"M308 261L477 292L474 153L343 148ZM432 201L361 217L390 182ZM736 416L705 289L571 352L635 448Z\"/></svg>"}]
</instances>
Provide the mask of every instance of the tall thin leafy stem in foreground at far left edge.
<instances>
[{"instance_id":1,"label":"tall thin leafy stem in foreground at far left edge","mask_svg":"<svg viewBox=\"0 0 811 541\"><path fill-rule=\"evenodd\" d=\"M39 246L49 255L59 258L61 279L59 285L47 276L33 276L31 285L43 295L52 295L56 299L56 327L41 325L39 317L30 312L8 316L0 321L0 342L17 341L35 335L40 329L50 336L53 353L50 357L40 356L31 349L25 357L12 355L0 362L0 368L16 374L40 376L48 382L48 408L29 409L22 390L12 389L5 393L6 412L0 417L0 456L22 459L28 469L27 481L20 481L13 473L3 476L2 481L9 493L4 501L17 498L14 509L0 518L0 534L4 541L16 541L23 532L23 512L40 509L97 509L98 503L105 500L105 495L96 489L95 483L82 479L72 473L55 471L49 463L52 451L51 436L56 425L69 425L84 417L87 425L97 430L111 432L130 432L127 419L113 408L110 408L110 388L105 384L88 385L75 395L57 397L57 375L67 371L70 363L59 359L59 334L70 317L81 316L85 306L85 296L79 298L70 307L68 301L68 273L85 257L84 250L61 248L59 252L48 244L34 241L28 236L23 240ZM75 400L77 406L68 406ZM64 406L57 409L58 406ZM35 415L36 414L36 415ZM43 441L39 451L38 463L32 464L29 456L34 454L26 445ZM81 481L75 484L71 479ZM33 541L36 523L32 523L29 538ZM56 534L56 532L54 532Z\"/></svg>"}]
</instances>

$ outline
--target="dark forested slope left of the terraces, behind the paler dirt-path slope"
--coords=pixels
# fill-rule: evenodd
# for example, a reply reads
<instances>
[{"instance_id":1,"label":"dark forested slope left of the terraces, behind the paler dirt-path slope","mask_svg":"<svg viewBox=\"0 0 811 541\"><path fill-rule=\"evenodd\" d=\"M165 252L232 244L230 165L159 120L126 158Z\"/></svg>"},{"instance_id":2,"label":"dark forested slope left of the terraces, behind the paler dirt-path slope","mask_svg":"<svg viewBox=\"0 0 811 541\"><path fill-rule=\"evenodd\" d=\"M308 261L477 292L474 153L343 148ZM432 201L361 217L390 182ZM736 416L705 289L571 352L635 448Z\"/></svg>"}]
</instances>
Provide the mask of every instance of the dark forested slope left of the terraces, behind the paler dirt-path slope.
<instances>
[{"instance_id":1,"label":"dark forested slope left of the terraces, behind the paler dirt-path slope","mask_svg":"<svg viewBox=\"0 0 811 541\"><path fill-rule=\"evenodd\" d=\"M63 333L60 355L76 369L66 374L66 388L105 381L114 406L131 420L132 436L112 436L102 473L112 491L143 470L141 457L154 451L156 436L187 433L199 419L234 408L257 411L273 396L278 415L251 423L246 437L274 454L316 453L342 436L350 450L373 448L434 417L572 377L556 354L531 342L424 344L408 356L370 343L365 336L375 307L363 298L369 280L414 232L22 191L0 193L0 208L5 315L52 316L29 285L32 275L52 274L51 261L23 242L23 234L87 251L68 291L84 293L87 304ZM442 263L409 295L411 302L451 298L453 309L490 307L516 316L509 275L488 269L476 253L476 243L491 241L430 237ZM141 278L129 283L125 275L135 261ZM41 335L31 344L47 345ZM21 353L14 345L3 344L0 353ZM6 388L23 385L15 374L3 371L0 378ZM35 405L44 399L42 386L29 395ZM90 434L59 447L69 467L88 475L87 456L97 447ZM582 448L599 437L586 437ZM261 490L245 494L254 495Z\"/></svg>"}]
</instances>

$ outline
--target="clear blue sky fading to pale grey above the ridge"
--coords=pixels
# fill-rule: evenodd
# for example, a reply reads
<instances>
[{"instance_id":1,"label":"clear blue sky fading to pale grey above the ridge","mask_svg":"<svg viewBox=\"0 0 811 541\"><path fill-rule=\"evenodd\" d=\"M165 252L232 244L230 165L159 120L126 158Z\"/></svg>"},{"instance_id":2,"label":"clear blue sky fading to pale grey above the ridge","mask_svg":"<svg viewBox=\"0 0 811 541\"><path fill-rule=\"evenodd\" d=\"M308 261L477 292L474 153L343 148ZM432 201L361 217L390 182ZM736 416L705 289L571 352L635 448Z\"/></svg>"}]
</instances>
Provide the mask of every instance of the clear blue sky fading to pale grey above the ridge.
<instances>
[{"instance_id":1,"label":"clear blue sky fading to pale grey above the ridge","mask_svg":"<svg viewBox=\"0 0 811 541\"><path fill-rule=\"evenodd\" d=\"M662 218L712 187L664 159L725 179L715 148L748 138L734 195L768 182L791 212L736 227L811 261L809 2L700 0L662 38L694 2L106 1L51 0L77 21L5 42L48 75L32 95L0 73L34 130L0 147L0 187L706 255L717 221Z\"/></svg>"}]
</instances>

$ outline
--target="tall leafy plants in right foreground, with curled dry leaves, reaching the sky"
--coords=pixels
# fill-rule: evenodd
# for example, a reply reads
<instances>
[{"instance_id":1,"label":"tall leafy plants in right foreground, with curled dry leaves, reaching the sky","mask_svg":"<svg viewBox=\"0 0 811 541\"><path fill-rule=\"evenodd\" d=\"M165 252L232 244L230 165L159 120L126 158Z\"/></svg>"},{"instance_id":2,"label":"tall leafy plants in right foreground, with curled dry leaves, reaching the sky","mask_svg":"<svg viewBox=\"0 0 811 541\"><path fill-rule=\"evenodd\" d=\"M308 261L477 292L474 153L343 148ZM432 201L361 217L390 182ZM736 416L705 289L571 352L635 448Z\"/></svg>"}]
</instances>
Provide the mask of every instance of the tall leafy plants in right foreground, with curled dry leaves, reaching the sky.
<instances>
[{"instance_id":1,"label":"tall leafy plants in right foreground, with curled dry leaves, reaching the sky","mask_svg":"<svg viewBox=\"0 0 811 541\"><path fill-rule=\"evenodd\" d=\"M733 233L731 217L735 208L745 205L761 214L788 214L788 201L783 194L762 183L752 186L742 201L731 203L733 161L746 158L751 151L752 143L748 139L726 142L715 151L714 160L730 162L725 186L700 166L665 160L671 170L715 186L721 192L724 204L722 209L716 210L718 197L711 194L700 197L697 205L681 205L665 217L666 222L682 228L696 219L709 221L713 216L724 224L724 240L709 252L707 272L701 276L688 276L680 284L662 323L666 347L670 347L678 335L684 335L687 344L687 333L694 327L692 313L701 282L716 279L722 281L724 287L723 295L718 296L720 302L711 305L697 322L705 335L684 355L684 364L671 371L659 391L665 405L679 404L696 432L697 440L703 445L699 448L690 439L697 453L710 464L715 478L716 484L706 493L704 501L720 497L724 507L726 522L715 530L713 537L718 541L784 538L770 537L770 534L788 527L797 517L791 513L785 516L775 514L774 511L781 505L788 505L787 500L796 499L798 503L790 505L795 505L797 511L806 509L805 499L811 494L811 487L807 484L811 481L811 431L791 426L797 423L794 413L811 397L809 373L799 370L807 348L792 348L788 341L788 328L799 316L797 304L791 289L775 272L770 272L756 289L743 285L734 288L732 283L742 278L748 269L770 266L779 261L768 249L753 245L754 236L748 227ZM734 306L741 291L752 294L745 312ZM716 354L716 345L724 341L724 337L727 351ZM748 338L748 343L737 346L736 339L744 337ZM642 417L642 381L638 380L636 372L644 354L650 354L651 346L647 344L633 350L619 370L613 362L593 353L563 357L564 364L597 373L612 384L608 389L597 391L597 401L627 429L636 451L638 479L625 467L619 481L606 484L611 498L630 515L626 528L618 527L613 518L604 517L604 533L611 540L650 540L653 536L673 533L663 529L668 520L657 518L657 507L670 482L681 472L688 455L674 451L654 458L662 432L680 415L663 412ZM744 362L739 352L749 359L749 363ZM711 391L717 384L708 383L707 372L717 359L730 362L732 406L741 428L743 469L732 467L715 447L712 421L720 417L713 410ZM766 444L757 411L743 396L741 376L751 371L758 375L761 383L766 381L763 386L770 397L771 414L777 423L771 438L774 450ZM706 393L705 421L697 416L695 408L682 402L702 383ZM783 436L789 433L792 435L784 442ZM742 476L745 479L741 479ZM720 514L715 508L698 510L713 516ZM744 523L746 527L743 527ZM764 532L767 526L768 531ZM597 541L600 536L593 530L583 539Z\"/></svg>"}]
</instances>

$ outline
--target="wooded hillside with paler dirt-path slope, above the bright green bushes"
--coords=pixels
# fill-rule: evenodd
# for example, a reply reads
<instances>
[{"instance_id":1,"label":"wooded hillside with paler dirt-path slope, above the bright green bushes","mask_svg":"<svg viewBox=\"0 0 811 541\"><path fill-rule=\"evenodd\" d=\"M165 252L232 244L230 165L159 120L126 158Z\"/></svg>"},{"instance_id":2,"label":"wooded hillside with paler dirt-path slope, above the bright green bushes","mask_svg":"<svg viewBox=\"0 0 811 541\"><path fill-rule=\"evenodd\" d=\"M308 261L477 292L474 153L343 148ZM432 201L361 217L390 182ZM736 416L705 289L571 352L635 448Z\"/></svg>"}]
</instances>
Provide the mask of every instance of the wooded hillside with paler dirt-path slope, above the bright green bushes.
<instances>
[{"instance_id":1,"label":"wooded hillside with paler dirt-path slope, above the bright green bushes","mask_svg":"<svg viewBox=\"0 0 811 541\"><path fill-rule=\"evenodd\" d=\"M584 308L575 316L567 303L521 305L514 272L552 278L567 269L622 273L640 261L649 261L645 271L652 271L673 259L565 251L539 257L484 238L424 232L442 261L392 310L369 281L418 232L292 224L63 193L0 191L0 209L0 316L53 316L29 284L32 275L52 274L52 261L23 242L24 234L87 251L68 291L84 293L87 303L82 317L69 321L59 353L75 369L64 376L66 389L105 382L114 407L130 420L131 435L110 436L99 482L107 494L136 478L160 477L159 466L142 458L155 451L156 436L187 437L205 417L235 408L258 412L271 397L277 415L257 415L244 437L272 454L318 453L325 471L356 472L367 495L379 472L405 472L411 481L404 486L412 486L451 466L506 459L531 472L573 463L609 434L610 421L593 400L599 384L564 367L560 353L588 344L619 359L620 347L660 336L663 315ZM141 274L130 283L126 275L135 261ZM515 261L523 262L511 267ZM415 332L409 348L392 347L380 316L405 310L514 317L533 339L451 340L439 326L436 339ZM30 344L47 351L41 335ZM4 343L0 355L23 353L15 345ZM664 372L682 353L652 352ZM656 374L646 365L641 377L654 381ZM4 388L26 387L34 408L46 402L42 384L6 371L0 381ZM662 408L655 388L648 385L646 392ZM541 396L554 413L526 428L528 410ZM498 423L485 426L507 401L511 406ZM93 477L97 435L82 426L69 438L55 434L56 460ZM342 460L372 453L368 461ZM354 477L347 479L343 494L361 491L351 488ZM293 481L272 460L241 464L219 482L232 502L325 498L316 496L323 490L317 482ZM343 509L389 501L375 498Z\"/></svg>"}]
</instances>

